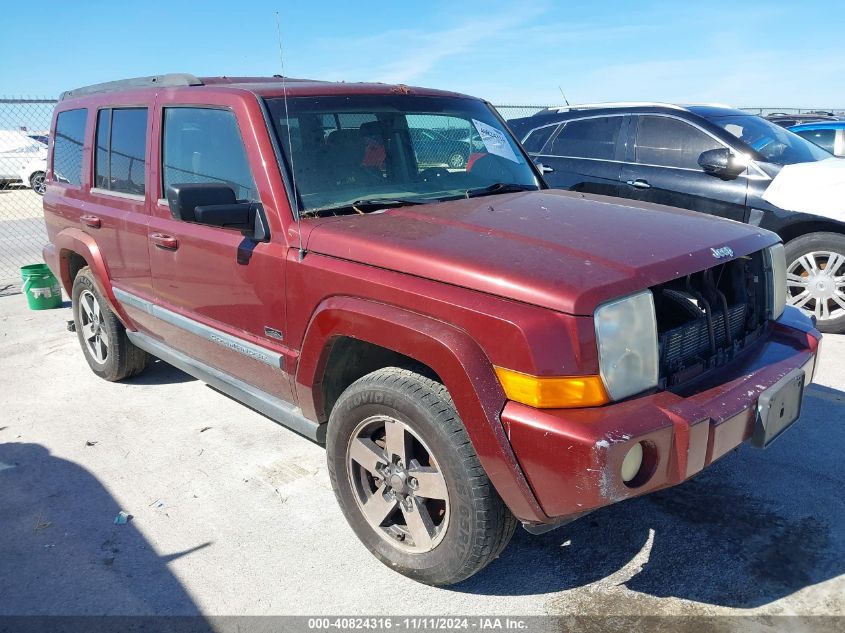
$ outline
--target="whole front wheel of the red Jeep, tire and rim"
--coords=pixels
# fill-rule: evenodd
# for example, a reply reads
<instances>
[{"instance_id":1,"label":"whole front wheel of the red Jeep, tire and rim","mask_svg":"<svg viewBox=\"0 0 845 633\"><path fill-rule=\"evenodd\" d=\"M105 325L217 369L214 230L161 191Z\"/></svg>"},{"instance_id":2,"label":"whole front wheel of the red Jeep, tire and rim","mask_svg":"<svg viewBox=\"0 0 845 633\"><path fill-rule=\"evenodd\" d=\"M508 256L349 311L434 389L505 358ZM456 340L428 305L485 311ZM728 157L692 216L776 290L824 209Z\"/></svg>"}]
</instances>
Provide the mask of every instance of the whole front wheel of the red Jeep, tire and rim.
<instances>
[{"instance_id":1,"label":"whole front wheel of the red Jeep, tire and rim","mask_svg":"<svg viewBox=\"0 0 845 633\"><path fill-rule=\"evenodd\" d=\"M388 441L388 432L402 440ZM361 448L358 462L352 455L360 457ZM408 463L398 459L400 451ZM450 585L469 578L516 529L449 392L417 373L388 367L350 385L331 412L326 453L332 488L355 534L382 563L414 580ZM368 500L373 520L364 512Z\"/></svg>"}]
</instances>

